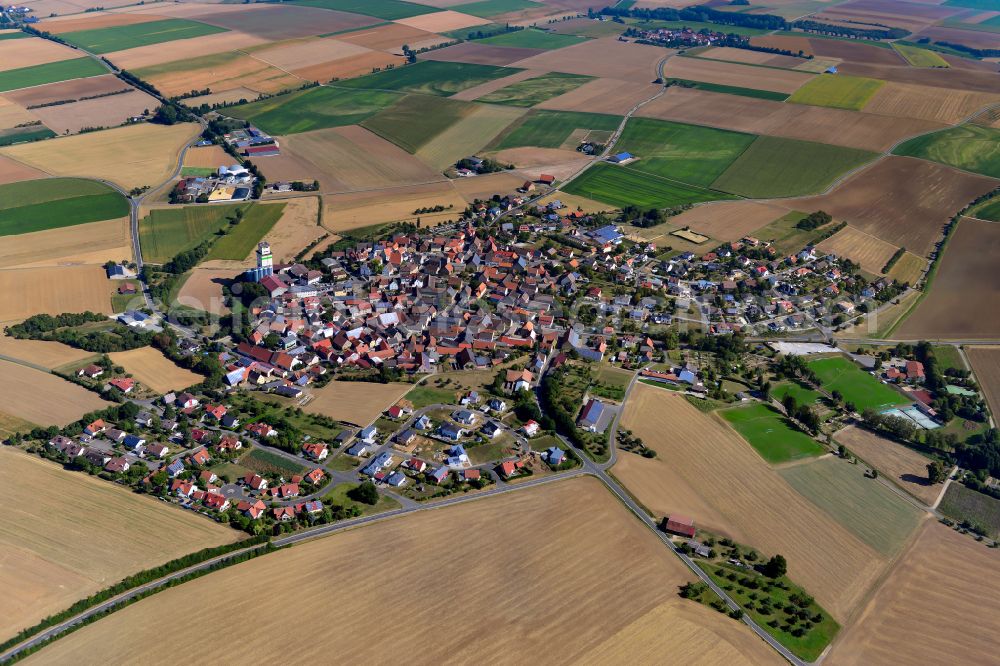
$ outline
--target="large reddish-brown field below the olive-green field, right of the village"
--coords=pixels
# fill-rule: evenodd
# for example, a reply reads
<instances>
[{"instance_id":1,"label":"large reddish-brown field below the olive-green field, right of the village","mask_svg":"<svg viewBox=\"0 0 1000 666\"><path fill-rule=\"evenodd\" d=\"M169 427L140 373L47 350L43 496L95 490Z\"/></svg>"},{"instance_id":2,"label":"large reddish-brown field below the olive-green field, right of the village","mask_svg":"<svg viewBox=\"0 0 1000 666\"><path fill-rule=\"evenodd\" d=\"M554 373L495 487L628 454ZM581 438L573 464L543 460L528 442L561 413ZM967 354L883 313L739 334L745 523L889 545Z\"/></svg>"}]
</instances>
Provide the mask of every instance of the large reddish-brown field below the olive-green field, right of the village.
<instances>
[{"instance_id":1,"label":"large reddish-brown field below the olive-green field, right of the village","mask_svg":"<svg viewBox=\"0 0 1000 666\"><path fill-rule=\"evenodd\" d=\"M892 156L855 173L828 194L788 200L787 205L825 210L876 238L927 256L951 216L996 182L934 162Z\"/></svg>"}]
</instances>

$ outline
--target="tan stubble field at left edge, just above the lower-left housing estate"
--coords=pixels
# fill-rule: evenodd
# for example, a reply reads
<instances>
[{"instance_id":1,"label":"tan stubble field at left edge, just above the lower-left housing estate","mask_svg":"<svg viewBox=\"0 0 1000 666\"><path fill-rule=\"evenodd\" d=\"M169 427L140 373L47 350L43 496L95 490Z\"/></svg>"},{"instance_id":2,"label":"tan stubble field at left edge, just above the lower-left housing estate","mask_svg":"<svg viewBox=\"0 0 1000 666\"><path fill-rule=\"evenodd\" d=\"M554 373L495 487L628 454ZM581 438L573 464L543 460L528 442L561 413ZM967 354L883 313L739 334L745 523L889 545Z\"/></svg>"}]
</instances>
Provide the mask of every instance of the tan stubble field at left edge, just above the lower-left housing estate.
<instances>
[{"instance_id":1,"label":"tan stubble field at left edge, just above the lower-left housing estate","mask_svg":"<svg viewBox=\"0 0 1000 666\"><path fill-rule=\"evenodd\" d=\"M17 363L0 361L0 372L4 413L41 426L62 428L87 412L114 404L82 386Z\"/></svg>"}]
</instances>

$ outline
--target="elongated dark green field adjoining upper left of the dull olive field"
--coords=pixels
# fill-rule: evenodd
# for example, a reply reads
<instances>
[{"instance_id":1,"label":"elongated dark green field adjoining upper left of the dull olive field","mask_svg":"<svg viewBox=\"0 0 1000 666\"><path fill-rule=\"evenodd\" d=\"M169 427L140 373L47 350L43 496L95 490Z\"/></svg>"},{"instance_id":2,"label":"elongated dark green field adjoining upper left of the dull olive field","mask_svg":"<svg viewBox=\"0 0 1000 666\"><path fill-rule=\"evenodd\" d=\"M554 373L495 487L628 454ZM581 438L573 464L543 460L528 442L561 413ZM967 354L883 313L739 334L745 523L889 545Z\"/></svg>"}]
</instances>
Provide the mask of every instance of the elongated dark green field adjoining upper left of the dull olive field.
<instances>
[{"instance_id":1,"label":"elongated dark green field adjoining upper left of the dull olive field","mask_svg":"<svg viewBox=\"0 0 1000 666\"><path fill-rule=\"evenodd\" d=\"M226 109L226 115L249 120L275 135L356 125L400 98L382 90L310 88Z\"/></svg>"}]
</instances>

